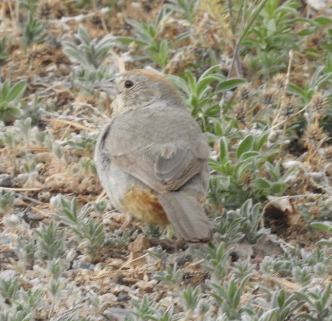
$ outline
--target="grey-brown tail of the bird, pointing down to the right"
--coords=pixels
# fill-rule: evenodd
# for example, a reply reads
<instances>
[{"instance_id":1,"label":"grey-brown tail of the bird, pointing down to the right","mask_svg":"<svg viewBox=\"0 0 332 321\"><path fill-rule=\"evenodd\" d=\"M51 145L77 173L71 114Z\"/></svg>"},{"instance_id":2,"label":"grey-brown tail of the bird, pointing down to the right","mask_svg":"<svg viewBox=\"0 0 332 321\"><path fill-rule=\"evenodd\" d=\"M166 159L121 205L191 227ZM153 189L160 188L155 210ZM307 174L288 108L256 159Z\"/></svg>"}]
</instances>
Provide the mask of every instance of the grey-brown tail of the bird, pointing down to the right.
<instances>
[{"instance_id":1,"label":"grey-brown tail of the bird, pointing down to the right","mask_svg":"<svg viewBox=\"0 0 332 321\"><path fill-rule=\"evenodd\" d=\"M178 238L191 242L209 241L212 228L195 197L185 192L172 191L158 196Z\"/></svg>"}]
</instances>

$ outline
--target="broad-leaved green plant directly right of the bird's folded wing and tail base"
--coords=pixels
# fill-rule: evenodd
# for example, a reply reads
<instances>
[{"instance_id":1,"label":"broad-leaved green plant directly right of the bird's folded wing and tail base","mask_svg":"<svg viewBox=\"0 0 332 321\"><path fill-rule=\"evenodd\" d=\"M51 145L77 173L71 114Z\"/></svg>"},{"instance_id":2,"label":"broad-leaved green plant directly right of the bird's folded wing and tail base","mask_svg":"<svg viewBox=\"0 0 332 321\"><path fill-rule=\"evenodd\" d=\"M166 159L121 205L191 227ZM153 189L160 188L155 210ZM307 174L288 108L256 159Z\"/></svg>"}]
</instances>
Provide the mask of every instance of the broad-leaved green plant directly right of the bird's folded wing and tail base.
<instances>
[{"instance_id":1,"label":"broad-leaved green plant directly right of the bird's folded wing and tail base","mask_svg":"<svg viewBox=\"0 0 332 321\"><path fill-rule=\"evenodd\" d=\"M218 160L209 165L217 172L210 181L208 200L219 206L238 207L249 198L262 201L267 195L281 195L287 189L287 178L293 169L281 172L281 161L271 163L278 149L265 149L269 130L248 134L233 151L233 139L219 139ZM267 177L259 177L259 176ZM220 197L221 195L221 197Z\"/></svg>"}]
</instances>

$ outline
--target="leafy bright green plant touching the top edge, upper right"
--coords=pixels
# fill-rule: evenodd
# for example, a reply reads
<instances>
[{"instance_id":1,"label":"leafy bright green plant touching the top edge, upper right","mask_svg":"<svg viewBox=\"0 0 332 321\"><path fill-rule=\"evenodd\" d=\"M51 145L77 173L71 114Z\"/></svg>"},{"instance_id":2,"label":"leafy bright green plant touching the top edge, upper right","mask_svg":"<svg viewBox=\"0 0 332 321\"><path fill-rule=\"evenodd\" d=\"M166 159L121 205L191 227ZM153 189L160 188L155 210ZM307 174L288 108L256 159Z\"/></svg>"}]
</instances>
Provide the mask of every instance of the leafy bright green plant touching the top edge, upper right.
<instances>
[{"instance_id":1,"label":"leafy bright green plant touching the top edge, upper right","mask_svg":"<svg viewBox=\"0 0 332 321\"><path fill-rule=\"evenodd\" d=\"M286 70L289 51L297 45L292 33L297 6L294 0L282 4L265 0L242 7L246 22L237 40L239 52L249 53L246 62L257 76L268 77Z\"/></svg>"}]
</instances>

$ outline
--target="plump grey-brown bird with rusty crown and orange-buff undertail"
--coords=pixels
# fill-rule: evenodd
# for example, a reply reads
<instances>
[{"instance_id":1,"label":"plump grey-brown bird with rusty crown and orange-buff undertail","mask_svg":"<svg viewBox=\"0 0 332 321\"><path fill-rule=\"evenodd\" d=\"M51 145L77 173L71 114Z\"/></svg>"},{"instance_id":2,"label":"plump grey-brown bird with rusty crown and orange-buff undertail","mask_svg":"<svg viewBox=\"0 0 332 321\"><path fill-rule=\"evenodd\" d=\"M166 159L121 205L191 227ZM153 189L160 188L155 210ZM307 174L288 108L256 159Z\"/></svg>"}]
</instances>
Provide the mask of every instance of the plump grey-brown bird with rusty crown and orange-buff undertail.
<instances>
[{"instance_id":1,"label":"plump grey-brown bird with rusty crown and orange-buff undertail","mask_svg":"<svg viewBox=\"0 0 332 321\"><path fill-rule=\"evenodd\" d=\"M209 146L180 92L162 74L134 69L98 86L112 102L94 161L118 211L145 225L171 224L177 239L208 242L201 202L209 187Z\"/></svg>"}]
</instances>

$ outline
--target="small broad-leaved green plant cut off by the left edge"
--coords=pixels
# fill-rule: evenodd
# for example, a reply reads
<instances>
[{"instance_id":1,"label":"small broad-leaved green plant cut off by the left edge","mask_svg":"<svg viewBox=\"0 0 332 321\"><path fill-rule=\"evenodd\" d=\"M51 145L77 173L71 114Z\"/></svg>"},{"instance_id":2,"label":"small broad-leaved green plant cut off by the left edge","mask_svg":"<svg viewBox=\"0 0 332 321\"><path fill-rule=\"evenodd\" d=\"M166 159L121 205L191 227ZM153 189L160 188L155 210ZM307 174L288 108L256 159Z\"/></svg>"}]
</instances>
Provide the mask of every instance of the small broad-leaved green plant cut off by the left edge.
<instances>
[{"instance_id":1,"label":"small broad-leaved green plant cut off by the left edge","mask_svg":"<svg viewBox=\"0 0 332 321\"><path fill-rule=\"evenodd\" d=\"M8 121L12 117L20 115L18 102L24 94L26 80L20 80L15 85L10 86L7 79L0 83L0 120Z\"/></svg>"}]
</instances>

